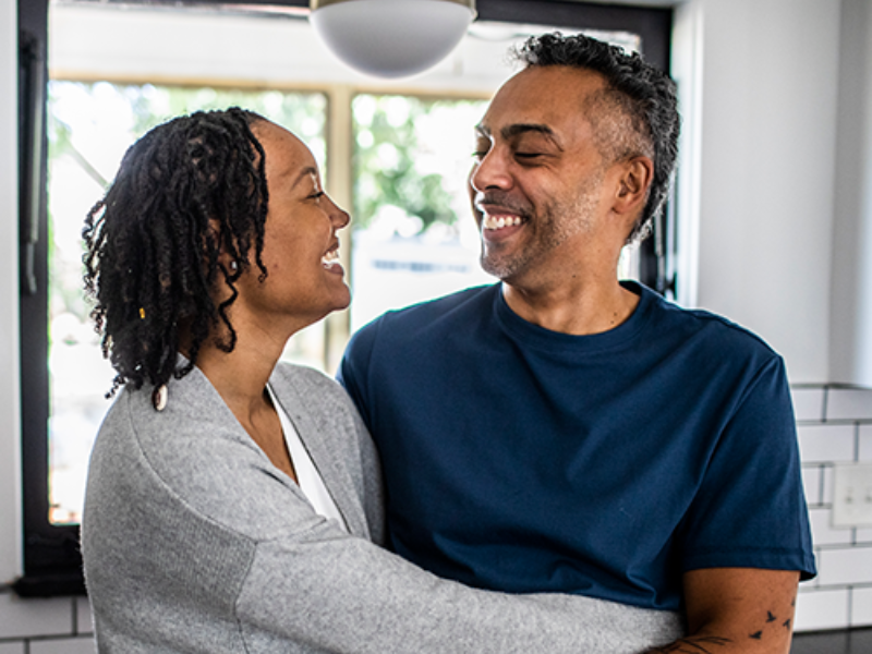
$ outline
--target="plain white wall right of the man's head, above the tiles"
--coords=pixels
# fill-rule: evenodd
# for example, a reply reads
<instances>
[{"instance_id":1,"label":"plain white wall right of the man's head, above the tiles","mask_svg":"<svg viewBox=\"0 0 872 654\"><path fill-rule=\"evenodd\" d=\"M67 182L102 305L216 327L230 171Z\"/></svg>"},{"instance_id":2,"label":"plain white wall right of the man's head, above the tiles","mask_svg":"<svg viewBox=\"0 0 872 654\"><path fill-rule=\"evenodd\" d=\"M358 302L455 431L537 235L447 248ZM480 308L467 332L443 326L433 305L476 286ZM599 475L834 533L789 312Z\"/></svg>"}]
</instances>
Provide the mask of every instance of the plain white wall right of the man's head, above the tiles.
<instances>
[{"instance_id":1,"label":"plain white wall right of the man's head, above the tiles","mask_svg":"<svg viewBox=\"0 0 872 654\"><path fill-rule=\"evenodd\" d=\"M679 32L701 39L697 303L766 339L792 383L828 375L840 4L678 12Z\"/></svg>"}]
</instances>

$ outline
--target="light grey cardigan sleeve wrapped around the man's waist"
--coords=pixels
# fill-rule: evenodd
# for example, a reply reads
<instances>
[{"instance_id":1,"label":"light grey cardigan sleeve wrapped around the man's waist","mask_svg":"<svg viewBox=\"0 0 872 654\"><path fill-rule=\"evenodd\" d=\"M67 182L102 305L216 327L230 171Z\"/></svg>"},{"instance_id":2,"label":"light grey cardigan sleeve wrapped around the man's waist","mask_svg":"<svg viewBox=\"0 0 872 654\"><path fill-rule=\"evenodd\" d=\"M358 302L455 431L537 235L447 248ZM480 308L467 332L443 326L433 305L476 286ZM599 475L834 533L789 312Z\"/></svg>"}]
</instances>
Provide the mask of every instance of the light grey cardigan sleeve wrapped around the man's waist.
<instances>
[{"instance_id":1,"label":"light grey cardigan sleeve wrapped around the man's waist","mask_svg":"<svg viewBox=\"0 0 872 654\"><path fill-rule=\"evenodd\" d=\"M241 622L341 654L638 654L683 633L675 614L473 590L336 531L258 544Z\"/></svg>"}]
</instances>

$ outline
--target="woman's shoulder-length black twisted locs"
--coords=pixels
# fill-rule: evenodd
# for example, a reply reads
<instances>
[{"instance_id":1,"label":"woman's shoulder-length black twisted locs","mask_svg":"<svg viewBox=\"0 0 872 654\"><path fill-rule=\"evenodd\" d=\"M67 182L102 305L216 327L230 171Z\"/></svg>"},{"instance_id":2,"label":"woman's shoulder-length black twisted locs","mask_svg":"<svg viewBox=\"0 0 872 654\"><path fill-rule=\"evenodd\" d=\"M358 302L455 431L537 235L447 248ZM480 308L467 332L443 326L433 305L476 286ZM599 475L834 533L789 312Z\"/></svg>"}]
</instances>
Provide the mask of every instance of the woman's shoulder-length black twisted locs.
<instances>
[{"instance_id":1,"label":"woman's shoulder-length black twisted locs","mask_svg":"<svg viewBox=\"0 0 872 654\"><path fill-rule=\"evenodd\" d=\"M107 397L124 384L157 388L190 373L204 341L229 352L234 282L250 267L266 277L264 148L252 133L263 117L233 107L158 125L124 155L106 195L88 211L85 290L116 370ZM235 266L227 269L219 255ZM216 303L218 283L230 290ZM187 363L177 368L181 331Z\"/></svg>"}]
</instances>

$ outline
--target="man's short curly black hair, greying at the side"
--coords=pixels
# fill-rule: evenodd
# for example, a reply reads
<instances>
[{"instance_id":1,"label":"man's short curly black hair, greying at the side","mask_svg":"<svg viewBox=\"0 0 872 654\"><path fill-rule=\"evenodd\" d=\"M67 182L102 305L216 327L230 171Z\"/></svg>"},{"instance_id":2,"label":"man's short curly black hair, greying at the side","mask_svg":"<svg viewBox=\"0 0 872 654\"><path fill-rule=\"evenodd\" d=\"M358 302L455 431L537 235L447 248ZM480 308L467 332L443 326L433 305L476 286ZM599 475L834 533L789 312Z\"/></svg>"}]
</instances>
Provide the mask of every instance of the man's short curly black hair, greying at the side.
<instances>
[{"instance_id":1,"label":"man's short curly black hair, greying at the side","mask_svg":"<svg viewBox=\"0 0 872 654\"><path fill-rule=\"evenodd\" d=\"M647 155L654 161L654 179L649 198L628 242L637 238L644 239L653 218L663 209L669 194L678 156L681 121L675 82L639 53L627 55L621 48L583 35L564 36L554 33L534 36L521 45L514 56L528 68L565 65L594 71L605 77L606 92L598 99L605 100L611 111L625 114L629 119L632 135L641 137L634 138L638 142L635 146L630 143L613 143L613 147L619 147L619 152L613 155ZM626 125L623 132L626 141ZM629 135L630 142L633 141L632 135Z\"/></svg>"}]
</instances>

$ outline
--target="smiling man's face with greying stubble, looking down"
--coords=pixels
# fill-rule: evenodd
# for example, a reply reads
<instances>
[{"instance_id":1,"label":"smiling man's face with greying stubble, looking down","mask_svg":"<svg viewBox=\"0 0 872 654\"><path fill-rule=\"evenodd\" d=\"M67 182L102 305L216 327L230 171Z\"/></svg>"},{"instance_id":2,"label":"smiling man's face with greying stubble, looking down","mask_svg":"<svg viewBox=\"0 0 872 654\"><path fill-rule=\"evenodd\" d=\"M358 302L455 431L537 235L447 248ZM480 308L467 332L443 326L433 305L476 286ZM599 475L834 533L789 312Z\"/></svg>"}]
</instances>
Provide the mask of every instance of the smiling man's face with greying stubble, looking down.
<instances>
[{"instance_id":1,"label":"smiling man's face with greying stubble, looking down","mask_svg":"<svg viewBox=\"0 0 872 654\"><path fill-rule=\"evenodd\" d=\"M565 66L522 71L497 93L476 128L470 173L482 267L513 283L572 275L601 246L607 162L584 116L597 73Z\"/></svg>"}]
</instances>

